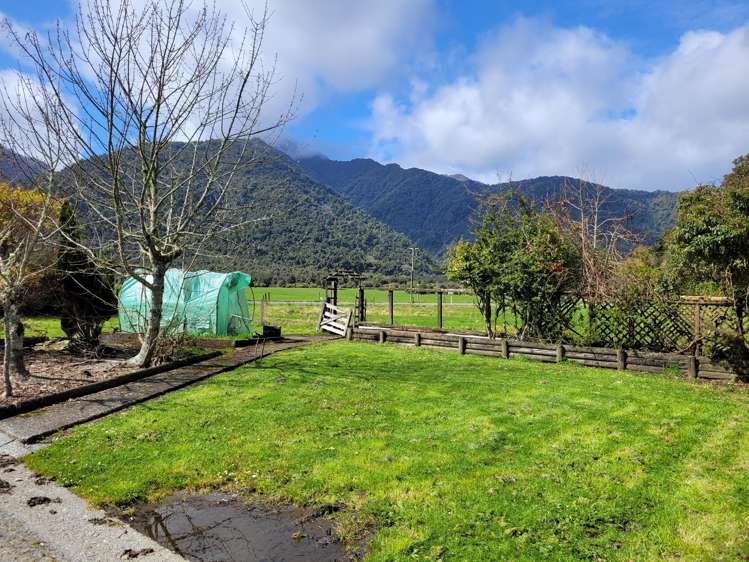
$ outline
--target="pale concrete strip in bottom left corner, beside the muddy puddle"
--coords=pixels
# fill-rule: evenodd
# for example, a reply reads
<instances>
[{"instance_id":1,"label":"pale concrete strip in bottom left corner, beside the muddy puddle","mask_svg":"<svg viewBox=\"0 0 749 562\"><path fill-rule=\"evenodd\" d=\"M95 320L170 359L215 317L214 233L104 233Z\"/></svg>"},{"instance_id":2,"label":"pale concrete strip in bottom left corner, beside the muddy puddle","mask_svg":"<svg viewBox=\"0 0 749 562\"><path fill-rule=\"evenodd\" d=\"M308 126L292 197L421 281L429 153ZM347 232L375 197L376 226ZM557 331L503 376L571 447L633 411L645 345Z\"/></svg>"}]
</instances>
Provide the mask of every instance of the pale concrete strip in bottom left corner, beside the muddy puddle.
<instances>
[{"instance_id":1,"label":"pale concrete strip in bottom left corner, beside the muddy puddle","mask_svg":"<svg viewBox=\"0 0 749 562\"><path fill-rule=\"evenodd\" d=\"M36 477L20 462L0 457L0 467L3 562L183 560L103 511L89 509L84 500Z\"/></svg>"}]
</instances>

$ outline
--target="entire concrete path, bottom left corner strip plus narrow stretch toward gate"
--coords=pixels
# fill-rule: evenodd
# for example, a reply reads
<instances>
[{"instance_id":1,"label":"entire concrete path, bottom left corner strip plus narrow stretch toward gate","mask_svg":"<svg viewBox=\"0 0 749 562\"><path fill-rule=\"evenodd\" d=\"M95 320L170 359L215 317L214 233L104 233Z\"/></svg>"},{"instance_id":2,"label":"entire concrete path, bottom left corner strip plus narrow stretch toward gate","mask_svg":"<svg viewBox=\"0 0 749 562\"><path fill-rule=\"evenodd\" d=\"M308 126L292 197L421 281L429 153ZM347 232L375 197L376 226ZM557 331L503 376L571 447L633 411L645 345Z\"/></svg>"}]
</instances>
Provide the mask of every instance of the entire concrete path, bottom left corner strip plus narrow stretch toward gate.
<instances>
[{"instance_id":1,"label":"entire concrete path, bottom left corner strip plus narrow stretch toward gate","mask_svg":"<svg viewBox=\"0 0 749 562\"><path fill-rule=\"evenodd\" d=\"M19 457L45 446L39 440L172 390L321 337L288 338L153 375L0 421L0 561L108 562L183 560L130 526L89 509L86 502L38 478Z\"/></svg>"}]
</instances>

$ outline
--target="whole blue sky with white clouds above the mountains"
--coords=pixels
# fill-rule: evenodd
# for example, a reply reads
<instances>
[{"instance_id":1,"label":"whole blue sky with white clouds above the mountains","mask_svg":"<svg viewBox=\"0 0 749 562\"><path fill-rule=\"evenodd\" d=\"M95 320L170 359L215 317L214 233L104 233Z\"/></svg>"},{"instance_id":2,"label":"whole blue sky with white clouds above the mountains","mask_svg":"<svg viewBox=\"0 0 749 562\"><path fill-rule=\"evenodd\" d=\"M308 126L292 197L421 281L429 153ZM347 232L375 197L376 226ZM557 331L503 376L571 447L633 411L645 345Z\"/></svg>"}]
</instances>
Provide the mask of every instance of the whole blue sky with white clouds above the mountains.
<instances>
[{"instance_id":1,"label":"whole blue sky with white clouds above the mountains","mask_svg":"<svg viewBox=\"0 0 749 562\"><path fill-rule=\"evenodd\" d=\"M241 0L216 3L241 23ZM43 31L73 6L0 0L0 13ZM303 93L288 131L302 150L486 181L565 174L648 190L719 181L749 152L746 1L270 8L274 99ZM0 37L0 79L14 68Z\"/></svg>"}]
</instances>

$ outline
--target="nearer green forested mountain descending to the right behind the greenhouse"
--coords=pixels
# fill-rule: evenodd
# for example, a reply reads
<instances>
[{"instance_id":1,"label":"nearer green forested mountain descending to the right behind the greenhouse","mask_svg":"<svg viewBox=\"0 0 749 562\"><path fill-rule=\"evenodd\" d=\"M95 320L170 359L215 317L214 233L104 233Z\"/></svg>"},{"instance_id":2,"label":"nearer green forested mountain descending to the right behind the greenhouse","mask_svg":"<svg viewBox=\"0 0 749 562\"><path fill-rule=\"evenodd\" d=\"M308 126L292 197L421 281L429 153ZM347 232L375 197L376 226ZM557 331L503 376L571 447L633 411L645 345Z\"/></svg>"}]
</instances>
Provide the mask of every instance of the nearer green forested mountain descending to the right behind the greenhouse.
<instances>
[{"instance_id":1,"label":"nearer green forested mountain descending to the right behind the greenhouse","mask_svg":"<svg viewBox=\"0 0 749 562\"><path fill-rule=\"evenodd\" d=\"M170 158L169 173L179 177L191 154ZM313 181L288 156L262 141L254 141L245 156L251 163L234 176L225 206L241 209L243 221L259 220L213 240L204 252L211 257L194 267L240 269L256 284L320 283L338 270L404 280L410 275L410 248L415 244L405 235ZM226 162L236 158L225 155ZM137 168L135 161L129 164L127 156L123 158L123 173L136 177ZM61 185L65 173L60 173ZM434 261L426 252L419 254L417 275L434 275Z\"/></svg>"}]
</instances>

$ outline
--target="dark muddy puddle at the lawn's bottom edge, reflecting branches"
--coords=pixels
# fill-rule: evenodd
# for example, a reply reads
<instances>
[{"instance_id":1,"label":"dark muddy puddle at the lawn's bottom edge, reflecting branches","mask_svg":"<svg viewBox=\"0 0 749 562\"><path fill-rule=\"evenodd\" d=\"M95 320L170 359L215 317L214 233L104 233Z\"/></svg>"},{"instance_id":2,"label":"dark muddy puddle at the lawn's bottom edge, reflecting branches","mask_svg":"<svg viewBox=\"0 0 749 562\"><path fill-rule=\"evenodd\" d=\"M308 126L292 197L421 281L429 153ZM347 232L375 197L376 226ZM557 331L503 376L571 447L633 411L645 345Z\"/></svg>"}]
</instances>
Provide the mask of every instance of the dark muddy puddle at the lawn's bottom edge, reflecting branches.
<instances>
[{"instance_id":1,"label":"dark muddy puddle at the lawn's bottom edge, reflecting branches","mask_svg":"<svg viewBox=\"0 0 749 562\"><path fill-rule=\"evenodd\" d=\"M331 509L248 504L224 493L176 494L134 515L129 525L188 560L332 562L350 560L335 540Z\"/></svg>"}]
</instances>

